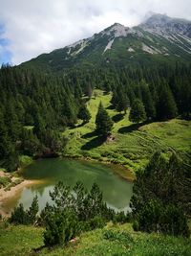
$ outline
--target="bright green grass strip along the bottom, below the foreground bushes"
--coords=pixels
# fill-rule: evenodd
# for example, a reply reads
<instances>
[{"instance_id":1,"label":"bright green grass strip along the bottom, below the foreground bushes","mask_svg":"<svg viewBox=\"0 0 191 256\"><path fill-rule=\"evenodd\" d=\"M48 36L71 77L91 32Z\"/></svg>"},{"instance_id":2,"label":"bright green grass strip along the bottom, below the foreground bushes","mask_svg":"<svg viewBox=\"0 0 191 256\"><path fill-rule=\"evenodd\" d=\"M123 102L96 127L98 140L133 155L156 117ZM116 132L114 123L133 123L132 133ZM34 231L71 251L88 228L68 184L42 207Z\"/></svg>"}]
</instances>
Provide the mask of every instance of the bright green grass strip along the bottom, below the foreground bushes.
<instances>
[{"instance_id":1,"label":"bright green grass strip along the bottom, below the foreground bushes","mask_svg":"<svg viewBox=\"0 0 191 256\"><path fill-rule=\"evenodd\" d=\"M82 234L66 247L42 248L43 229L32 226L0 225L0 255L145 255L145 256L190 256L190 239L135 232L131 224L108 225Z\"/></svg>"}]
</instances>

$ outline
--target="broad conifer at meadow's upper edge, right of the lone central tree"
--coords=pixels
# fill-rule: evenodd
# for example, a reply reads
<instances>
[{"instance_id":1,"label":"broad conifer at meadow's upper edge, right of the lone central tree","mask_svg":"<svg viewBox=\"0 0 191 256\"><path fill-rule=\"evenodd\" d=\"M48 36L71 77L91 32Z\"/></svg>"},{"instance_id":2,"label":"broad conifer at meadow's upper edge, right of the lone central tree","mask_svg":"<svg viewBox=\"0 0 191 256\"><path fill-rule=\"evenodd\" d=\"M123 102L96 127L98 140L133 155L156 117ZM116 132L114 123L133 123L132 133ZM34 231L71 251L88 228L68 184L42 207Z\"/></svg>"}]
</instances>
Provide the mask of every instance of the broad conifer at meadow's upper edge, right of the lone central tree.
<instances>
[{"instance_id":1,"label":"broad conifer at meadow's upper edge, right of the lone central tree","mask_svg":"<svg viewBox=\"0 0 191 256\"><path fill-rule=\"evenodd\" d=\"M133 123L139 123L146 120L144 105L138 99L136 99L131 106L129 120Z\"/></svg>"}]
</instances>

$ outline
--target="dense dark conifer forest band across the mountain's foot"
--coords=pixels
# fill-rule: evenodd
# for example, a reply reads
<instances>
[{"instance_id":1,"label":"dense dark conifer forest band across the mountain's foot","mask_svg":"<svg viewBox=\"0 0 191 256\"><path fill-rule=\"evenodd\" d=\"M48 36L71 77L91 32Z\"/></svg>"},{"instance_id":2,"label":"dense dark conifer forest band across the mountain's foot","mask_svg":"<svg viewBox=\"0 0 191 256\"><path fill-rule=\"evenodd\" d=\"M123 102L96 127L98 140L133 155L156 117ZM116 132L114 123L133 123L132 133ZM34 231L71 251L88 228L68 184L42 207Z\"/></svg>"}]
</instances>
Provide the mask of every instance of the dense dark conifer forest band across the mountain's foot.
<instances>
[{"instance_id":1,"label":"dense dark conifer forest band across the mountain's foot","mask_svg":"<svg viewBox=\"0 0 191 256\"><path fill-rule=\"evenodd\" d=\"M133 123L189 120L191 67L177 63L158 68L77 70L55 76L3 65L0 70L1 167L14 171L19 154L33 157L61 153L62 136L77 119L90 119L86 101L94 88L113 92L118 112L131 107ZM107 132L106 132L107 133Z\"/></svg>"}]
</instances>

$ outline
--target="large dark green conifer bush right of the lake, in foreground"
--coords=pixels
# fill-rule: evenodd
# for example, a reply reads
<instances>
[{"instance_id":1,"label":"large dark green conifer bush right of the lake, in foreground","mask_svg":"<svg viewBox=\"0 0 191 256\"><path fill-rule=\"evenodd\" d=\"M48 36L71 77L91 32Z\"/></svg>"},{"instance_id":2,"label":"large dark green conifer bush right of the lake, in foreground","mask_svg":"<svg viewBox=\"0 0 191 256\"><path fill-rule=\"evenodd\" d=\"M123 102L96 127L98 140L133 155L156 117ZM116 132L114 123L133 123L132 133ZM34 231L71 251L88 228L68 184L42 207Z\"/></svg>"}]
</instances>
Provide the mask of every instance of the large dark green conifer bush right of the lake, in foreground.
<instances>
[{"instance_id":1,"label":"large dark green conifer bush right of the lake, in foreground","mask_svg":"<svg viewBox=\"0 0 191 256\"><path fill-rule=\"evenodd\" d=\"M131 206L135 229L189 236L185 215L189 212L189 187L190 180L177 156L172 154L167 162L155 153L145 170L138 172L134 184Z\"/></svg>"}]
</instances>

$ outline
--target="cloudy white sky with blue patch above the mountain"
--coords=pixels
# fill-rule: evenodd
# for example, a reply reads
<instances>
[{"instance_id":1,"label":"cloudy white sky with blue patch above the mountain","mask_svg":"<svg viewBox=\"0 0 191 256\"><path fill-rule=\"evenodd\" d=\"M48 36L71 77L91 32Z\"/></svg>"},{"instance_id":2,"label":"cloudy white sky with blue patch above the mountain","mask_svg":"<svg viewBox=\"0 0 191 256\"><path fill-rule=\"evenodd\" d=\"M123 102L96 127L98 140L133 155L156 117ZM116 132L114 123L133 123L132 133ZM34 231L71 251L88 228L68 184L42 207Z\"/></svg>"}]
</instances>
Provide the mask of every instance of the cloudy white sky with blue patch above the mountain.
<instances>
[{"instance_id":1,"label":"cloudy white sky with blue patch above the mountain","mask_svg":"<svg viewBox=\"0 0 191 256\"><path fill-rule=\"evenodd\" d=\"M148 12L191 20L191 0L0 0L0 64L17 65Z\"/></svg>"}]
</instances>

